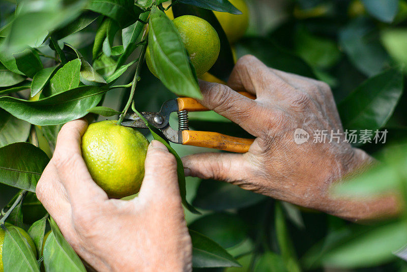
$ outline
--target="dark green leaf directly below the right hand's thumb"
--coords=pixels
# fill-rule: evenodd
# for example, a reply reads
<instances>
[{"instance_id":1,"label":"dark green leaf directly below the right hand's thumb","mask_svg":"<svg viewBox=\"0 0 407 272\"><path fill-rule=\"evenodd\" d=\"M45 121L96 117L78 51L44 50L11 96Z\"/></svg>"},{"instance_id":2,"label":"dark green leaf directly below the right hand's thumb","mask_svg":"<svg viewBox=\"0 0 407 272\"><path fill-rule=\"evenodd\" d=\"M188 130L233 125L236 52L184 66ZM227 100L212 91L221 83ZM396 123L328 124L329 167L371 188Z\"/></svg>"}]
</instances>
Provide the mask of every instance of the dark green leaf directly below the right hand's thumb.
<instances>
[{"instance_id":1,"label":"dark green leaf directly below the right hand's thumb","mask_svg":"<svg viewBox=\"0 0 407 272\"><path fill-rule=\"evenodd\" d=\"M196 191L193 205L206 210L239 209L265 200L259 195L239 186L217 180L202 180Z\"/></svg>"}]
</instances>

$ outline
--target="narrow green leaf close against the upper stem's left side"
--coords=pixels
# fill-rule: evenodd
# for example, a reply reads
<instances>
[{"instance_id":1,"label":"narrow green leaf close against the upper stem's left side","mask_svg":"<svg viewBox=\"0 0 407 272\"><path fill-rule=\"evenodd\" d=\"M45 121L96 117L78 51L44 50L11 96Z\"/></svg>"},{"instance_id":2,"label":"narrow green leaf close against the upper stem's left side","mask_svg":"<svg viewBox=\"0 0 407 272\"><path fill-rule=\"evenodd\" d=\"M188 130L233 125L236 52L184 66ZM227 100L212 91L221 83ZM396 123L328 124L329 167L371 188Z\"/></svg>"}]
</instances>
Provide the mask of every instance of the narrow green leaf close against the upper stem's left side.
<instances>
[{"instance_id":1,"label":"narrow green leaf close against the upper stem's left side","mask_svg":"<svg viewBox=\"0 0 407 272\"><path fill-rule=\"evenodd\" d=\"M140 36L141 31L143 30L144 26L146 24L142 23L141 21L145 22L149 18L150 12L144 12L140 14L139 20L135 22L132 26L129 26L126 28L125 33L124 30L122 30L122 39L123 40L123 45L125 44L126 40L126 48L124 48L123 54L119 57L118 62L116 64L116 67L121 67L126 60L130 57L131 53L136 49L136 47L139 45L136 41L137 38ZM124 35L124 36L123 36Z\"/></svg>"}]
</instances>

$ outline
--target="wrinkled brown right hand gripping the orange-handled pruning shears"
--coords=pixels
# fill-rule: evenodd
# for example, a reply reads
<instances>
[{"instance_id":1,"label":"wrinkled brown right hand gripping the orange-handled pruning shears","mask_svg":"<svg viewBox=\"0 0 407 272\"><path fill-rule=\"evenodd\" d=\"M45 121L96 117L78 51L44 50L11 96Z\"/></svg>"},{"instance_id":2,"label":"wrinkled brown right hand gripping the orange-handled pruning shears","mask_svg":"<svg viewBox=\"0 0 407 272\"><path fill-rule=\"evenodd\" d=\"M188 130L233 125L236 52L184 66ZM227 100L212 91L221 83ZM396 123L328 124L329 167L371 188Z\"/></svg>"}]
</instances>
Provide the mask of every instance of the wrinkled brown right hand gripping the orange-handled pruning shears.
<instances>
[{"instance_id":1,"label":"wrinkled brown right hand gripping the orange-handled pruning shears","mask_svg":"<svg viewBox=\"0 0 407 272\"><path fill-rule=\"evenodd\" d=\"M201 103L256 137L245 154L202 153L183 158L187 175L217 179L244 189L351 220L394 213L394 197L380 200L333 199L330 185L372 163L364 151L344 142L343 128L329 86L311 78L268 68L244 56L228 87L200 81ZM256 95L255 100L235 91ZM294 141L297 128L310 139ZM341 133L339 143L313 143L316 130Z\"/></svg>"}]
</instances>

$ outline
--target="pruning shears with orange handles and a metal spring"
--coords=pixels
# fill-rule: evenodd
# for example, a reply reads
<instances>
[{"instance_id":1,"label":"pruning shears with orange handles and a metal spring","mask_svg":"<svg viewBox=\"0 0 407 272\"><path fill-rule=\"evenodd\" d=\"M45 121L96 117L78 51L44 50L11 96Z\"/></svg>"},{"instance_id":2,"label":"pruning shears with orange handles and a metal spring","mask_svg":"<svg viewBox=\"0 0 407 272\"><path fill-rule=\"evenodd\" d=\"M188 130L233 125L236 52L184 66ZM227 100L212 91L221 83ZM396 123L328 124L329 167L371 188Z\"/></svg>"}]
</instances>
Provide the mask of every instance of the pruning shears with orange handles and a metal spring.
<instances>
[{"instance_id":1,"label":"pruning shears with orange handles and a metal spring","mask_svg":"<svg viewBox=\"0 0 407 272\"><path fill-rule=\"evenodd\" d=\"M247 92L240 94L255 99L255 96ZM254 139L232 137L211 131L189 130L188 112L210 111L197 100L190 97L180 97L164 102L161 110L157 112L142 112L141 116L147 119L150 125L160 129L168 141L176 144L215 148L230 152L245 153L249 150ZM178 113L178 130L169 125L171 113ZM122 125L134 128L148 128L137 113L126 114Z\"/></svg>"}]
</instances>

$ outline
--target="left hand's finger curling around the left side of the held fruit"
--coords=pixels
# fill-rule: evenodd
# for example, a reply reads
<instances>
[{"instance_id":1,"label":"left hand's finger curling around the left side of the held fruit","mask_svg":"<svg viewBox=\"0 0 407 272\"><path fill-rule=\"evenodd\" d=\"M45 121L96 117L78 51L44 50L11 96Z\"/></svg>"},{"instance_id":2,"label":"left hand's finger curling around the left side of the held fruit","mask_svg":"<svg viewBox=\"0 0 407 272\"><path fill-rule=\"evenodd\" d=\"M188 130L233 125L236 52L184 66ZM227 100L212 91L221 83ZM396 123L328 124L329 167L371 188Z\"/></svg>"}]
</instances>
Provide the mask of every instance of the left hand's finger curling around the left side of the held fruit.
<instances>
[{"instance_id":1,"label":"left hand's finger curling around the left side of the held fruit","mask_svg":"<svg viewBox=\"0 0 407 272\"><path fill-rule=\"evenodd\" d=\"M93 181L81 155L80 140L86 127L82 119L66 123L58 134L51 159L72 206L107 199L103 189Z\"/></svg>"}]
</instances>

